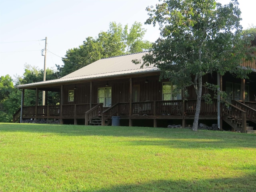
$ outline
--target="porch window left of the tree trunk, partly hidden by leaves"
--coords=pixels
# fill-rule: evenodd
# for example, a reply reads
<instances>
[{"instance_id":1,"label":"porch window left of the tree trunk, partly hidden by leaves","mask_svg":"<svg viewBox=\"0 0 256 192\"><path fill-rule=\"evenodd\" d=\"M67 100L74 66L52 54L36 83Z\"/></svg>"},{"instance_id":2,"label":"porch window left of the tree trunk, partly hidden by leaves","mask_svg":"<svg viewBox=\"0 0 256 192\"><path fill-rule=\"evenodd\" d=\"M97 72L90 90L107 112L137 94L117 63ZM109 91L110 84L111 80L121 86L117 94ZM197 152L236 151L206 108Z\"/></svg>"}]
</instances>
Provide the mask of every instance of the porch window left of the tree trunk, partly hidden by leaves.
<instances>
[{"instance_id":1,"label":"porch window left of the tree trunk, partly hidden by leaves","mask_svg":"<svg viewBox=\"0 0 256 192\"><path fill-rule=\"evenodd\" d=\"M166 100L181 100L181 90L177 90L176 85L171 82L163 82L162 99Z\"/></svg>"}]
</instances>

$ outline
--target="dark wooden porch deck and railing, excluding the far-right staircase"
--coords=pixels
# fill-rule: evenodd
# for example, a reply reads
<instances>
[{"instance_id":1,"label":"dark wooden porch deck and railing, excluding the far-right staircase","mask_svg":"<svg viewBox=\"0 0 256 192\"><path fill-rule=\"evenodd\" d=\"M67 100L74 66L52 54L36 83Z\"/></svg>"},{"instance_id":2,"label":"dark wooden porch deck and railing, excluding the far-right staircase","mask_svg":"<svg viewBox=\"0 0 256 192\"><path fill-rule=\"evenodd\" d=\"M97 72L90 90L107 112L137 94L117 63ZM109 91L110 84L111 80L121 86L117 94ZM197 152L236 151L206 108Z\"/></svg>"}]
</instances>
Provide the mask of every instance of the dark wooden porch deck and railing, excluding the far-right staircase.
<instances>
[{"instance_id":1,"label":"dark wooden porch deck and railing, excluding the far-right staircase","mask_svg":"<svg viewBox=\"0 0 256 192\"><path fill-rule=\"evenodd\" d=\"M100 116L101 124L105 125L111 122L112 116L120 116L121 119L129 120L129 126L132 126L134 119L152 119L156 127L157 119L194 119L195 109L196 100L120 102L108 108L102 104L92 104L91 108L90 104L23 106L22 119L74 119L74 124L77 124L78 119L83 119L84 124L88 125L92 118ZM20 119L20 114L20 110L14 114L13 122ZM217 119L217 100L213 100L212 104L202 100L200 118Z\"/></svg>"}]
</instances>

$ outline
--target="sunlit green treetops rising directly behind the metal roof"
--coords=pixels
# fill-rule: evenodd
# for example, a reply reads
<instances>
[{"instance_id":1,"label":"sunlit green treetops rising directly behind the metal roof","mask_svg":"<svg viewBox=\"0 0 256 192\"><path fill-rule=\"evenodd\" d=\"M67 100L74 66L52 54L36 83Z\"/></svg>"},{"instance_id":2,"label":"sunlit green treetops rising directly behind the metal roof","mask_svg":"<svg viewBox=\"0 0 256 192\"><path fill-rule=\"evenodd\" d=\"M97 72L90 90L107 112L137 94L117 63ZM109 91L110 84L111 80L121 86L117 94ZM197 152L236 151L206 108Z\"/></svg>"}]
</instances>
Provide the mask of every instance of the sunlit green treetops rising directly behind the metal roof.
<instances>
[{"instance_id":1,"label":"sunlit green treetops rising directly behind the metal roof","mask_svg":"<svg viewBox=\"0 0 256 192\"><path fill-rule=\"evenodd\" d=\"M100 32L95 39L86 38L83 45L69 49L62 61L63 66L57 66L60 76L65 76L101 58L141 52L151 47L149 41L143 40L146 30L142 24L135 22L128 31L128 25L110 22L107 32Z\"/></svg>"}]
</instances>

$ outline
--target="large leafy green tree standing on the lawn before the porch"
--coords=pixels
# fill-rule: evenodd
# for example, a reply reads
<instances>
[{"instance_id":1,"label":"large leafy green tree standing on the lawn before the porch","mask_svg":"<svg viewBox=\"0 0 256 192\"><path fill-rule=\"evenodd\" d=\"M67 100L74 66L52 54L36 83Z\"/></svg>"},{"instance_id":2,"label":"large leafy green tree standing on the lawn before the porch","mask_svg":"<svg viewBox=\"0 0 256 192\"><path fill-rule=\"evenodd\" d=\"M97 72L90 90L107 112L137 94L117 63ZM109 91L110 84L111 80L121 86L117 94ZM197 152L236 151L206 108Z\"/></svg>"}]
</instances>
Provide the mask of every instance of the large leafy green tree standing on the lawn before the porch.
<instances>
[{"instance_id":1,"label":"large leafy green tree standing on the lawn before the porch","mask_svg":"<svg viewBox=\"0 0 256 192\"><path fill-rule=\"evenodd\" d=\"M204 86L202 77L214 71L246 78L250 70L238 68L250 41L242 38L237 0L222 5L215 0L163 0L147 8L146 24L158 23L159 38L143 65L155 64L160 79L170 79L181 88L193 86L196 112L192 129L197 130Z\"/></svg>"}]
</instances>

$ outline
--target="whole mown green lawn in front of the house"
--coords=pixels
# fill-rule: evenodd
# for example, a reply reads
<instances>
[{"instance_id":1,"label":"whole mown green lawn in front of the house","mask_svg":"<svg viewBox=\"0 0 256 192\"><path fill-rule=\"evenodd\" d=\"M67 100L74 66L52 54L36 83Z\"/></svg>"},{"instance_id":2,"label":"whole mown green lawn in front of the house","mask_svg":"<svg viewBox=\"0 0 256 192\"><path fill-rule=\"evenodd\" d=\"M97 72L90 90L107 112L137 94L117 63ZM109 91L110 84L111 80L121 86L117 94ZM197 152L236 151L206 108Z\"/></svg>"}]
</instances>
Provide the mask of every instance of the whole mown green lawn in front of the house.
<instances>
[{"instance_id":1,"label":"whole mown green lawn in front of the house","mask_svg":"<svg viewBox=\"0 0 256 192\"><path fill-rule=\"evenodd\" d=\"M253 192L256 135L0 123L0 192Z\"/></svg>"}]
</instances>

